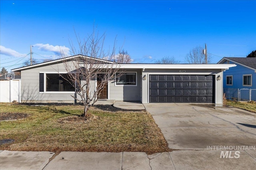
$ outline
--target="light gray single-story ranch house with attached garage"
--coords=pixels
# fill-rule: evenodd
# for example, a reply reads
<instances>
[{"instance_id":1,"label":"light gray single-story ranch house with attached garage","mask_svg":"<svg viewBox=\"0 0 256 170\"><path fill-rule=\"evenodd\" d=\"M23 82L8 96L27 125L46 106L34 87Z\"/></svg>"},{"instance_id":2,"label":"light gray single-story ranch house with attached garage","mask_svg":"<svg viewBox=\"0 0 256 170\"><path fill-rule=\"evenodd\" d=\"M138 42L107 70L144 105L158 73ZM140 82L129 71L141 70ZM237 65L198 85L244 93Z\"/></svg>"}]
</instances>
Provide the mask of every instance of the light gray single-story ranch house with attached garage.
<instances>
[{"instance_id":1,"label":"light gray single-story ranch house with attached garage","mask_svg":"<svg viewBox=\"0 0 256 170\"><path fill-rule=\"evenodd\" d=\"M21 72L21 102L73 103L71 94L74 95L74 88L60 81L59 74L67 73L64 62L77 57L86 56L76 55L13 69ZM99 100L139 101L143 104L213 103L222 106L223 71L233 66L236 65L120 64L124 74L108 82L106 92ZM97 77L90 81L92 93L97 87Z\"/></svg>"}]
</instances>

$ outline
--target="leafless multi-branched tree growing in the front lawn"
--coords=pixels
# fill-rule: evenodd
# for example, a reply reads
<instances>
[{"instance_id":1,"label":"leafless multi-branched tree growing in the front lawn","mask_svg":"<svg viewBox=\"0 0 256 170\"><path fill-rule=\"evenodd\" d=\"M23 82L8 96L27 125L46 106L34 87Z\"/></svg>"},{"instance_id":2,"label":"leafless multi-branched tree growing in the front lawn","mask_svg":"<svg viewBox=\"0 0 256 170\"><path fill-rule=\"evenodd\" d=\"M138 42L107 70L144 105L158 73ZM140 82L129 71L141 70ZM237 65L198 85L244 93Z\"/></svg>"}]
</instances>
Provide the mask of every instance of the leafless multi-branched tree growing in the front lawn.
<instances>
[{"instance_id":1,"label":"leafless multi-branched tree growing in the front lawn","mask_svg":"<svg viewBox=\"0 0 256 170\"><path fill-rule=\"evenodd\" d=\"M116 75L117 72L122 72L120 63L112 62L115 56L115 44L111 50L105 52L104 39L104 34L99 36L95 31L83 41L76 34L78 48L70 42L74 57L70 59L62 53L64 66L68 72L67 79L76 91L72 97L84 105L82 114L84 119L91 116L88 114L88 108L101 97L106 84L117 76L121 76L121 74ZM91 84L95 79L97 80L96 89Z\"/></svg>"}]
</instances>

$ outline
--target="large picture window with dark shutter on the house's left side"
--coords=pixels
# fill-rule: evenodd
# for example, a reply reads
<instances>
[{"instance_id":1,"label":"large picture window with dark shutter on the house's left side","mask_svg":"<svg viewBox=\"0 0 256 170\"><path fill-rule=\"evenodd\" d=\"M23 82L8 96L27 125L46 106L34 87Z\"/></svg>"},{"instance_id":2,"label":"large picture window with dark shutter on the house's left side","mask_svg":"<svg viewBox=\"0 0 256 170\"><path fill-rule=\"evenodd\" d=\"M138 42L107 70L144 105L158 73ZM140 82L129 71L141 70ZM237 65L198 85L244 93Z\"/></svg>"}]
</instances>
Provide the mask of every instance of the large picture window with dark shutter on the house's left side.
<instances>
[{"instance_id":1,"label":"large picture window with dark shutter on the house's left side","mask_svg":"<svg viewBox=\"0 0 256 170\"><path fill-rule=\"evenodd\" d=\"M40 73L40 92L74 92L75 88L68 81L67 74Z\"/></svg>"}]
</instances>

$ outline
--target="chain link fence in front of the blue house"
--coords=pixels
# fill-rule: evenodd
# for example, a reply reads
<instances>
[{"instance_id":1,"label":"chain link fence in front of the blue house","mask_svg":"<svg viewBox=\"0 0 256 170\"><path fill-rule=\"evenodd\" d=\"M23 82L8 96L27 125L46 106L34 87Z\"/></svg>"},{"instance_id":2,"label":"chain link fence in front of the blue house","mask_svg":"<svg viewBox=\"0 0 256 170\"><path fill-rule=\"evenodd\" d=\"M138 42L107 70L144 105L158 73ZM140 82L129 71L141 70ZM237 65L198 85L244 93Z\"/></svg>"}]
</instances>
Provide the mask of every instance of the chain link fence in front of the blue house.
<instances>
[{"instance_id":1,"label":"chain link fence in front of the blue house","mask_svg":"<svg viewBox=\"0 0 256 170\"><path fill-rule=\"evenodd\" d=\"M238 102L256 101L256 89L223 88L227 100Z\"/></svg>"}]
</instances>

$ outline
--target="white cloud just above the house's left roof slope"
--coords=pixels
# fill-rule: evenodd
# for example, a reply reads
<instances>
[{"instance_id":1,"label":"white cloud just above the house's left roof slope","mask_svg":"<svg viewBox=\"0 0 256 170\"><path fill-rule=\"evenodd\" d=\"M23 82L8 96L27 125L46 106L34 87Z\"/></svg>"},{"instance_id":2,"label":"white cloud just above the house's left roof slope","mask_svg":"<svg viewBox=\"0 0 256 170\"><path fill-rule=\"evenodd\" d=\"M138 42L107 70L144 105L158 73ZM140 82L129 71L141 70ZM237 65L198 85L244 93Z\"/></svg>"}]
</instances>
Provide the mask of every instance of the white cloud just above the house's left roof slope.
<instances>
[{"instance_id":1,"label":"white cloud just above the house's left roof slope","mask_svg":"<svg viewBox=\"0 0 256 170\"><path fill-rule=\"evenodd\" d=\"M42 50L42 51L51 51L54 52L55 54L60 54L60 51L62 51L64 53L64 55L70 56L70 49L68 47L65 46L53 46L50 44L35 44L33 45L34 47L38 47L38 49Z\"/></svg>"}]
</instances>

